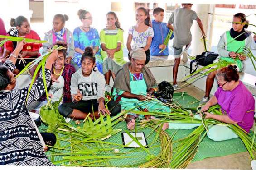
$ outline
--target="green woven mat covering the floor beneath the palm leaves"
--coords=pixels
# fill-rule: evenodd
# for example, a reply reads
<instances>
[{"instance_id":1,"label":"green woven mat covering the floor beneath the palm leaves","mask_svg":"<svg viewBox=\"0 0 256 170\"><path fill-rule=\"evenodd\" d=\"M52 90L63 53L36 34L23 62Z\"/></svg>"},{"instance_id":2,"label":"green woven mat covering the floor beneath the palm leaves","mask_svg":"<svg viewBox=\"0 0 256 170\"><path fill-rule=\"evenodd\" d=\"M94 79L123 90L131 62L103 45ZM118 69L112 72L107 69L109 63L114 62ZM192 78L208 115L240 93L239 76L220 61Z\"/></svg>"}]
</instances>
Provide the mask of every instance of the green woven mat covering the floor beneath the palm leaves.
<instances>
[{"instance_id":1,"label":"green woven mat covering the floor beneath the palm leaves","mask_svg":"<svg viewBox=\"0 0 256 170\"><path fill-rule=\"evenodd\" d=\"M174 93L174 101L179 102L179 104L181 104L182 106L187 107L187 108L195 108L196 106L198 106L198 101L186 93L184 93L183 95L181 95L181 93L178 93L178 94ZM72 123L72 124L74 124L74 123ZM75 124L74 124L74 126L75 126ZM39 131L41 131L41 132L45 131L46 128L47 127L45 125L42 125L39 128ZM115 129L126 130L127 129L126 123L125 122L118 123L116 125ZM174 140L186 137L193 130L194 129L178 130L178 132L174 136ZM141 131L143 131L145 133L145 136L147 137L148 134L152 131L152 129L146 128L146 129L140 130L140 132ZM166 131L170 135L174 132L174 130L172 130L172 129L167 129ZM122 132L124 132L124 131L122 131ZM111 138L106 139L105 141L122 144L122 137L121 137L122 132L117 133L116 135L112 136ZM152 135L150 135L147 138L148 145L151 145L151 143L155 137L155 134L156 133L154 132L154 133L152 133ZM59 134L58 138L65 138L65 137L63 137L63 135ZM67 146L68 142L60 141L59 145L61 147ZM104 146L104 147L107 147L107 146ZM124 167L125 166L125 167L128 167L130 165L139 163L140 161L144 160L145 157L147 156L147 153L145 151L143 151L142 149L137 149L136 152L131 152L133 150L131 148L121 148L121 147L114 147L114 146L111 146L111 147L113 148L113 152L114 152L114 149L116 149L116 148L118 148L120 150L120 152L130 152L130 153L127 153L126 156L132 156L132 158L115 159L115 160L109 161L106 165L100 165L100 166L112 166L112 167ZM158 155L160 152L159 141L156 142L154 145L150 146L148 149L152 154ZM226 155L230 155L230 154L234 154L234 153L238 153L238 152L244 152L244 151L246 151L246 147L243 145L240 138L230 139L230 140L221 141L221 142L215 142L213 140L210 140L206 136L203 139L203 141L200 143L198 152L195 155L192 162L203 160L208 157L226 156ZM68 151L63 151L63 150L60 151L57 149L51 149L50 151L46 152L46 154L50 155L53 153L65 153L65 152L68 152ZM53 160L53 156L49 156L49 159L51 161L61 160L62 156L54 156L54 160Z\"/></svg>"}]
</instances>

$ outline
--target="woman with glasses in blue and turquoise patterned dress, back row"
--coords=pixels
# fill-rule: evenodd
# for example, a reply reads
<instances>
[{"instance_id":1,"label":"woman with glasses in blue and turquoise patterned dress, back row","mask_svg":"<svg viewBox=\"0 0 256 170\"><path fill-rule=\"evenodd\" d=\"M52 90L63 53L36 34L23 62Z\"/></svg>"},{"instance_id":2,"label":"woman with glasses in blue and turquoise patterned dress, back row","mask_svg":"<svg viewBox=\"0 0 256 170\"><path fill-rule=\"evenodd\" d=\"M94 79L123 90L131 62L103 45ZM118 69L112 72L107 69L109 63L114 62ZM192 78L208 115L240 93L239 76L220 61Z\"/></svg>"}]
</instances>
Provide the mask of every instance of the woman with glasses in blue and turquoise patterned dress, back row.
<instances>
[{"instance_id":1,"label":"woman with glasses in blue and turquoise patterned dress, back row","mask_svg":"<svg viewBox=\"0 0 256 170\"><path fill-rule=\"evenodd\" d=\"M74 46L75 46L75 56L73 61L81 68L81 57L87 46L91 46L93 49L94 56L96 58L97 69L102 73L102 57L101 57L101 45L100 37L97 29L91 27L92 25L92 15L86 10L80 9L78 11L79 19L82 25L75 28L73 32Z\"/></svg>"}]
</instances>

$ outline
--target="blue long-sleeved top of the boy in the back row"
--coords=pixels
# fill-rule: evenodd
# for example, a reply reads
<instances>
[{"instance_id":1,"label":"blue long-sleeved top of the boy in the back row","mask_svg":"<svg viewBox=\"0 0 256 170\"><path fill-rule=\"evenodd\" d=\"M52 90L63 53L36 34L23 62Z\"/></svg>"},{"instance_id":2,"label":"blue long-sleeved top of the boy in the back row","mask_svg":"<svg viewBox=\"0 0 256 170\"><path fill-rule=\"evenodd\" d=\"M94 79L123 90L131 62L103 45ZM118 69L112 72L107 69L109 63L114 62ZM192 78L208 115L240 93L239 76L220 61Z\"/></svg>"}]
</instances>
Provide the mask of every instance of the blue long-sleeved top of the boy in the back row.
<instances>
[{"instance_id":1,"label":"blue long-sleeved top of the boy in the back row","mask_svg":"<svg viewBox=\"0 0 256 170\"><path fill-rule=\"evenodd\" d=\"M159 46L161 44L164 44L164 40L167 37L167 34L169 32L169 28L167 27L166 23L159 23L155 20L152 20L152 27L154 30L154 37L152 39L152 43L150 46L150 54L151 55L169 55L168 51L168 44L166 49L159 54L159 52L162 49L159 49ZM174 34L171 36L171 39L173 39Z\"/></svg>"}]
</instances>

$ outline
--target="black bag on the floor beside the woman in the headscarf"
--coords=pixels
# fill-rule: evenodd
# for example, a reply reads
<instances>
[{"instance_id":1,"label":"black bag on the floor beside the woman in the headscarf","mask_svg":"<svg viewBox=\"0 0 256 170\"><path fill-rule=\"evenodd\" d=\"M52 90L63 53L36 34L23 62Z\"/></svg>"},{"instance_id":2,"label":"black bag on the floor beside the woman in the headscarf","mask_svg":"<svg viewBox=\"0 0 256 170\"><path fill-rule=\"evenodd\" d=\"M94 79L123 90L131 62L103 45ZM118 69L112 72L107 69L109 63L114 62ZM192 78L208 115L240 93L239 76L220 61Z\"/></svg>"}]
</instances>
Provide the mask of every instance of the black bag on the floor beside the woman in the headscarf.
<instances>
[{"instance_id":1,"label":"black bag on the floor beside the woman in the headscarf","mask_svg":"<svg viewBox=\"0 0 256 170\"><path fill-rule=\"evenodd\" d=\"M158 100L162 101L163 103L172 102L174 95L174 87L169 82L162 81L158 85L158 88L158 92L154 94L156 97L158 97Z\"/></svg>"}]
</instances>

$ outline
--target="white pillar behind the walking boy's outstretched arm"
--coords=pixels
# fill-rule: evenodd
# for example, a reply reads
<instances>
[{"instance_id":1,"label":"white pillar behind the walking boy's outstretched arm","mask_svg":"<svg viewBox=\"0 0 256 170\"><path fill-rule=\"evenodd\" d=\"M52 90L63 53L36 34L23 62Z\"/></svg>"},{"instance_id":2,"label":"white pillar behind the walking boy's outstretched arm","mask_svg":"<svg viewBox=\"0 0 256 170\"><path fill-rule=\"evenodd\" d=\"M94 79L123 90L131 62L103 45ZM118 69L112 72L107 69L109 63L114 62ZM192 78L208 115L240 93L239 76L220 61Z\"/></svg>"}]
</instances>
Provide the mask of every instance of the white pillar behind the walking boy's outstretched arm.
<instances>
[{"instance_id":1,"label":"white pillar behind the walking boy's outstretched arm","mask_svg":"<svg viewBox=\"0 0 256 170\"><path fill-rule=\"evenodd\" d=\"M211 49L212 33L213 33L213 17L214 17L214 5L210 4L195 4L193 5L193 10L196 11L198 17L203 23L203 29L207 36L207 51ZM192 28L192 55L201 54L204 50L203 41L201 41L202 32L198 26L198 23L194 21Z\"/></svg>"}]
</instances>

